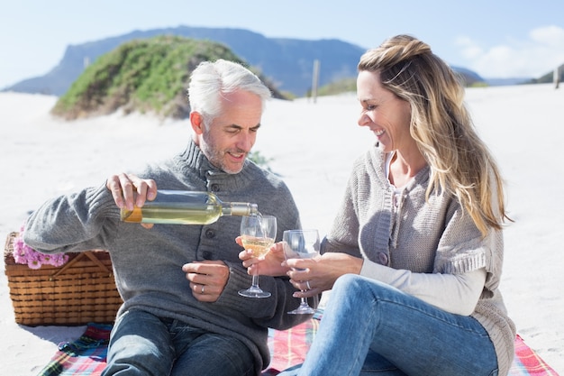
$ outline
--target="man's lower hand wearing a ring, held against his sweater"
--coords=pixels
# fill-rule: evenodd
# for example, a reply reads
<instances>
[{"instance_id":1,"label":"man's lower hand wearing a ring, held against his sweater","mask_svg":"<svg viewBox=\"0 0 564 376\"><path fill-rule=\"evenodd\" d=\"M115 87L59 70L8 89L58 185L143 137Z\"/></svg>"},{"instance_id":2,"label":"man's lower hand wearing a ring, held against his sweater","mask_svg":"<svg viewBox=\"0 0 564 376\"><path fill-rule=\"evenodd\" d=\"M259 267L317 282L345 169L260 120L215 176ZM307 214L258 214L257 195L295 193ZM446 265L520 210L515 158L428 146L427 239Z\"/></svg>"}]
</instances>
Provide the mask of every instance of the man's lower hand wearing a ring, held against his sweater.
<instances>
[{"instance_id":1,"label":"man's lower hand wearing a ring, held against his sweater","mask_svg":"<svg viewBox=\"0 0 564 376\"><path fill-rule=\"evenodd\" d=\"M192 295L199 301L214 302L229 280L229 267L223 261L194 261L182 266L190 281Z\"/></svg>"}]
</instances>

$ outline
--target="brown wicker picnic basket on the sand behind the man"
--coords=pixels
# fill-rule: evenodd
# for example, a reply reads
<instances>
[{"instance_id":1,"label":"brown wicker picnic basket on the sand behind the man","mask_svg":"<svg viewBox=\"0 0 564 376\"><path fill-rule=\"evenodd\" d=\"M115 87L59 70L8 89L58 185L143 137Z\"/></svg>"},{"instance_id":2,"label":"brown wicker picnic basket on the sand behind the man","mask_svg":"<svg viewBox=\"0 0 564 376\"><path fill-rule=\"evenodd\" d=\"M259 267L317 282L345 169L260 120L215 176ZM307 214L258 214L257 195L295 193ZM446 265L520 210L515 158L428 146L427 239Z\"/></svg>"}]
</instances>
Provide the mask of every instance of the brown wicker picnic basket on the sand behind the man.
<instances>
[{"instance_id":1,"label":"brown wicker picnic basket on the sand behind the man","mask_svg":"<svg viewBox=\"0 0 564 376\"><path fill-rule=\"evenodd\" d=\"M15 263L13 240L5 244L5 274L15 322L24 326L78 326L112 323L122 304L115 289L110 255L105 251L69 253L60 267L33 270Z\"/></svg>"}]
</instances>

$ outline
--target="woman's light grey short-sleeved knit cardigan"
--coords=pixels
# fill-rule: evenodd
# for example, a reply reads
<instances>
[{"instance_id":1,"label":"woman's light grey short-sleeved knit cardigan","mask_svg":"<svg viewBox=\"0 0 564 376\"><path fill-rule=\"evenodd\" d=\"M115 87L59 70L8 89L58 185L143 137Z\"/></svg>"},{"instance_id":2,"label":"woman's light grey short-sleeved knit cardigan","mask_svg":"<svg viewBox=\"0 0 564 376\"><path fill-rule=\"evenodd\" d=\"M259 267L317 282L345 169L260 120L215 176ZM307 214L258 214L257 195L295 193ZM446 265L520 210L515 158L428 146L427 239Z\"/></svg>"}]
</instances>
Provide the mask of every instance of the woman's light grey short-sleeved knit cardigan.
<instances>
[{"instance_id":1,"label":"woman's light grey short-sleeved knit cardigan","mask_svg":"<svg viewBox=\"0 0 564 376\"><path fill-rule=\"evenodd\" d=\"M429 167L419 171L398 195L387 180L385 163L386 154L378 147L355 162L322 252L361 257L365 260L361 274L378 280L390 275L389 268L442 274L485 268L486 284L471 316L486 328L496 348L499 374L507 374L514 357L515 326L498 289L502 232L491 231L482 238L456 197L444 192L425 202Z\"/></svg>"}]
</instances>

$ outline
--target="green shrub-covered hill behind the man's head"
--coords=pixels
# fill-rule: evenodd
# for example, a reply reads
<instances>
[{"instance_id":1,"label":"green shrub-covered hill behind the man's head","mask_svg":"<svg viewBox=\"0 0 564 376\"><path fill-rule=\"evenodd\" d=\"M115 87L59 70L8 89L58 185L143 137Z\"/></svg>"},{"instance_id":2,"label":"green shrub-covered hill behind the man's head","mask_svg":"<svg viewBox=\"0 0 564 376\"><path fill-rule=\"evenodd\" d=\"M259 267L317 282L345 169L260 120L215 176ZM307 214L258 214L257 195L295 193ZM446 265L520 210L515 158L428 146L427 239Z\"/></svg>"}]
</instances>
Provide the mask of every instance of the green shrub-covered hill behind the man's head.
<instances>
[{"instance_id":1,"label":"green shrub-covered hill behind the man's head","mask_svg":"<svg viewBox=\"0 0 564 376\"><path fill-rule=\"evenodd\" d=\"M126 114L185 118L190 73L201 61L218 59L244 64L232 50L213 41L177 36L128 41L87 67L51 113L74 120L120 109ZM267 78L261 79L268 85ZM273 96L281 97L276 87L269 88Z\"/></svg>"}]
</instances>

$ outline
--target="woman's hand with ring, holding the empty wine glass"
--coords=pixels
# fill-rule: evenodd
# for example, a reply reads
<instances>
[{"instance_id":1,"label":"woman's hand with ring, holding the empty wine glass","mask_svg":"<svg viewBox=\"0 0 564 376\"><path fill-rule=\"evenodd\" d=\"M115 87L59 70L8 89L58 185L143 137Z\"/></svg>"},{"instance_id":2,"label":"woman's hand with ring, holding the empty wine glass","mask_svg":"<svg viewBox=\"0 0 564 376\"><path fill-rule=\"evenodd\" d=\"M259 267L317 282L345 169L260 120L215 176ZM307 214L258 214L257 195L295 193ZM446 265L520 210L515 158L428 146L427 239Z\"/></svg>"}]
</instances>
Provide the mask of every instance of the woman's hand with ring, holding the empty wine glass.
<instances>
[{"instance_id":1,"label":"woman's hand with ring, holding the empty wine glass","mask_svg":"<svg viewBox=\"0 0 564 376\"><path fill-rule=\"evenodd\" d=\"M335 280L343 274L359 274L362 259L347 253L327 252L313 259L291 259L283 262L287 266L290 282L299 291L296 298L309 298L332 289Z\"/></svg>"}]
</instances>

